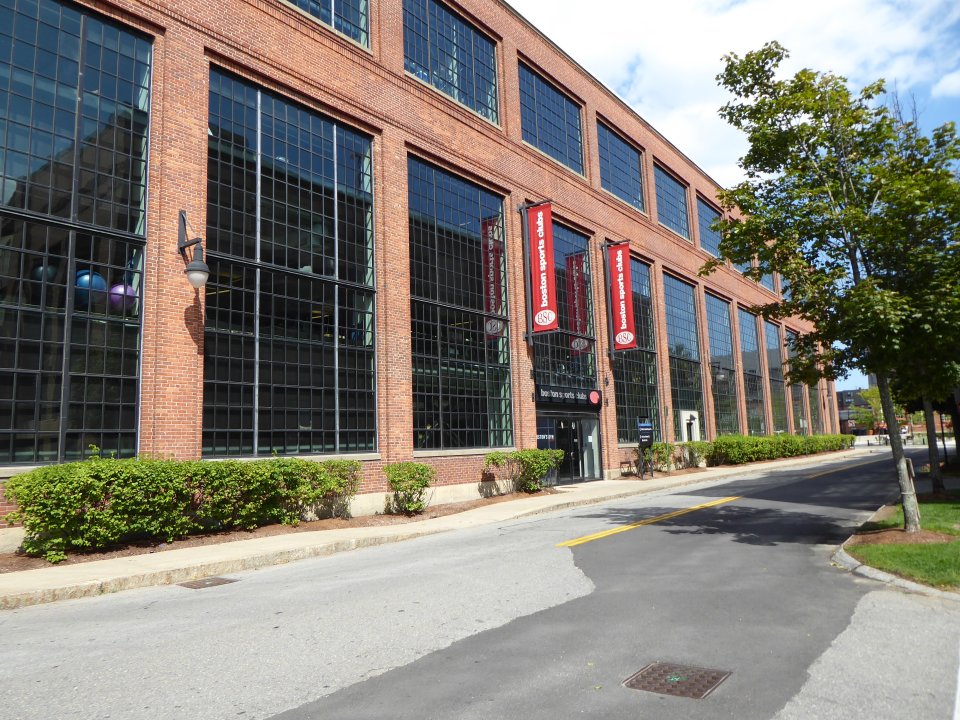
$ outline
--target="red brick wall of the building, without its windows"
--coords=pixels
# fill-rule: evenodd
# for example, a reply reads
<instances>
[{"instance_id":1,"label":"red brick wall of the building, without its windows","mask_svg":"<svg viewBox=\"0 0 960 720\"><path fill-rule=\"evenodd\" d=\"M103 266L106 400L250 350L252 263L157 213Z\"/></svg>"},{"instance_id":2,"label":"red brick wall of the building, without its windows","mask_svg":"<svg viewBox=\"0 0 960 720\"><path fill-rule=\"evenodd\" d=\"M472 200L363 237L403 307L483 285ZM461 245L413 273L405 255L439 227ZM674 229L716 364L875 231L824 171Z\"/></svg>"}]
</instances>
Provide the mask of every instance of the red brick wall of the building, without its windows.
<instances>
[{"instance_id":1,"label":"red brick wall of the building, without its windows","mask_svg":"<svg viewBox=\"0 0 960 720\"><path fill-rule=\"evenodd\" d=\"M516 445L536 442L531 356L525 329L520 218L516 206L552 198L556 216L587 232L593 243L598 329L598 383L603 458L619 469L629 450L617 446L613 372L607 356L606 317L599 245L631 241L653 264L658 308L661 406L670 405L666 328L660 273L669 270L703 291L747 305L770 293L735 271L706 279L707 259L696 247L696 193L713 199L716 186L663 135L653 130L539 32L496 0L463 0L461 10L497 43L501 125L495 126L403 69L401 0L371 3L371 48L365 49L278 0L111 0L88 5L155 38L145 278L141 451L195 458L200 454L203 370L203 292L183 278L176 251L177 213L205 227L207 85L211 64L354 125L374 136L377 287L377 387L381 460L369 462L362 491L383 490L382 463L411 459L410 303L407 242L407 155L414 153L505 196L508 292L511 313ZM523 58L583 104L585 175L554 162L521 141L517 81ZM644 150L645 214L602 190L596 154L597 115ZM663 129L669 132L669 128ZM693 242L656 222L654 160L689 185ZM791 328L803 329L799 323ZM702 333L705 340L705 332ZM704 357L706 343L704 341ZM609 379L609 384L607 384ZM705 385L708 377L705 376ZM709 407L709 387L707 386ZM742 394L741 394L742 397ZM708 414L709 415L709 414ZM712 418L706 418L712 426ZM672 416L667 418L672 434ZM482 456L427 458L440 483L476 482Z\"/></svg>"}]
</instances>

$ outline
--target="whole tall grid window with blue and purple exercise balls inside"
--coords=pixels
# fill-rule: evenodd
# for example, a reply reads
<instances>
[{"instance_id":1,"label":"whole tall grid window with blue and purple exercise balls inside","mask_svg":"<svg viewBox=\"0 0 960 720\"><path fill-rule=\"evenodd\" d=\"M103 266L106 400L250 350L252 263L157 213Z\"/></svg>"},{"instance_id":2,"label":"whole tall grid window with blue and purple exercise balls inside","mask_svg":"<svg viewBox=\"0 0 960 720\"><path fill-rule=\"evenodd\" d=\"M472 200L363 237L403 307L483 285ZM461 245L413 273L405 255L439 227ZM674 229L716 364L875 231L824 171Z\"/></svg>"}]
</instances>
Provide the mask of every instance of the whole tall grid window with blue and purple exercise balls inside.
<instances>
[{"instance_id":1,"label":"whole tall grid window with blue and purple exercise balls inside","mask_svg":"<svg viewBox=\"0 0 960 720\"><path fill-rule=\"evenodd\" d=\"M0 4L0 463L137 452L152 43Z\"/></svg>"}]
</instances>

